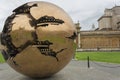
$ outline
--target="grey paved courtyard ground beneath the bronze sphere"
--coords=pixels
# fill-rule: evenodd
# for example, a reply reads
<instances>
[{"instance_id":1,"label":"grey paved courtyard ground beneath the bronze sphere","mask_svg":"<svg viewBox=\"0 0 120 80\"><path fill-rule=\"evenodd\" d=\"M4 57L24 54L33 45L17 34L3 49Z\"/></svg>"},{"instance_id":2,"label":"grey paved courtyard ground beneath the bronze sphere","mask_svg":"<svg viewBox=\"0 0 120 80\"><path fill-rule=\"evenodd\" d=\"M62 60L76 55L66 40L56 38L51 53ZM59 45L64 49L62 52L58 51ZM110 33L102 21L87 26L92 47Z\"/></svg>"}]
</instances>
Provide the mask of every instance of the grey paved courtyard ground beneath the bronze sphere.
<instances>
[{"instance_id":1,"label":"grey paved courtyard ground beneath the bronze sphere","mask_svg":"<svg viewBox=\"0 0 120 80\"><path fill-rule=\"evenodd\" d=\"M63 70L46 79L31 79L15 72L6 63L0 64L0 80L120 80L120 64L72 60Z\"/></svg>"}]
</instances>

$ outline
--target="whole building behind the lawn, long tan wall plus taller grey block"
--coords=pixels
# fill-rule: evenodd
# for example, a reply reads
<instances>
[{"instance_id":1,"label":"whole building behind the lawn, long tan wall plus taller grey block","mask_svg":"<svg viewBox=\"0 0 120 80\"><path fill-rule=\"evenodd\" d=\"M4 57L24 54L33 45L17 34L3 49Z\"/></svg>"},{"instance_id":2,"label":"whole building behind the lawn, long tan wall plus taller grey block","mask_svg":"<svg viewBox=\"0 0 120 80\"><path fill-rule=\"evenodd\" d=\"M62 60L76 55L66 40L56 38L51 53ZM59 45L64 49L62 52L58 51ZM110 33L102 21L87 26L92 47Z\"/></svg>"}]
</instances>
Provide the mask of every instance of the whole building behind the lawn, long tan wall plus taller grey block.
<instances>
[{"instance_id":1,"label":"whole building behind the lawn, long tan wall plus taller grey block","mask_svg":"<svg viewBox=\"0 0 120 80\"><path fill-rule=\"evenodd\" d=\"M77 24L78 49L120 50L120 6L105 9L104 12L98 19L99 27L94 31L79 31Z\"/></svg>"}]
</instances>

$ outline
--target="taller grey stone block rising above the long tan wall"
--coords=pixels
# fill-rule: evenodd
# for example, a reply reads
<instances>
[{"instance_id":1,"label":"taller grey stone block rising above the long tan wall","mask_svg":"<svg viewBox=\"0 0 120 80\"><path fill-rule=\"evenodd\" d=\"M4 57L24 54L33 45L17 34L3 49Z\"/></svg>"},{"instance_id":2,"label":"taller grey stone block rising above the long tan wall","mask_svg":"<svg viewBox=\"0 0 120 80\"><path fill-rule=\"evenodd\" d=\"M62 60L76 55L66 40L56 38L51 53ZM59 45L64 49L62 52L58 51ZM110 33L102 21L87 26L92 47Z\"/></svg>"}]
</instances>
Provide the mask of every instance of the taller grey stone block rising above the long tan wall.
<instances>
[{"instance_id":1,"label":"taller grey stone block rising above the long tan wall","mask_svg":"<svg viewBox=\"0 0 120 80\"><path fill-rule=\"evenodd\" d=\"M120 6L105 9L104 15L98 19L99 30L120 30Z\"/></svg>"}]
</instances>

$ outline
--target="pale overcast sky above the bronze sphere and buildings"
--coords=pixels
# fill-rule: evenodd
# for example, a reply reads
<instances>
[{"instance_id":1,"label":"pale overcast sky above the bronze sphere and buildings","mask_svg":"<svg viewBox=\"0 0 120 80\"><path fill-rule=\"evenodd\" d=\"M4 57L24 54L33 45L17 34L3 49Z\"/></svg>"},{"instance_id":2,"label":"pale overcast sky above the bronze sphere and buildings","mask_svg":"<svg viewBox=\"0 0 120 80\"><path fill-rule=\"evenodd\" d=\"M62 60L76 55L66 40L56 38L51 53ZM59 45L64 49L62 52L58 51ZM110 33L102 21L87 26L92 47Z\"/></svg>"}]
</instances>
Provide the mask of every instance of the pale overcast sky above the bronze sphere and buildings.
<instances>
[{"instance_id":1,"label":"pale overcast sky above the bronze sphere and buildings","mask_svg":"<svg viewBox=\"0 0 120 80\"><path fill-rule=\"evenodd\" d=\"M82 30L90 30L93 24L98 27L97 20L105 8L120 6L120 0L0 0L0 31L12 10L30 1L46 1L58 5L70 15L74 23L80 22Z\"/></svg>"}]
</instances>

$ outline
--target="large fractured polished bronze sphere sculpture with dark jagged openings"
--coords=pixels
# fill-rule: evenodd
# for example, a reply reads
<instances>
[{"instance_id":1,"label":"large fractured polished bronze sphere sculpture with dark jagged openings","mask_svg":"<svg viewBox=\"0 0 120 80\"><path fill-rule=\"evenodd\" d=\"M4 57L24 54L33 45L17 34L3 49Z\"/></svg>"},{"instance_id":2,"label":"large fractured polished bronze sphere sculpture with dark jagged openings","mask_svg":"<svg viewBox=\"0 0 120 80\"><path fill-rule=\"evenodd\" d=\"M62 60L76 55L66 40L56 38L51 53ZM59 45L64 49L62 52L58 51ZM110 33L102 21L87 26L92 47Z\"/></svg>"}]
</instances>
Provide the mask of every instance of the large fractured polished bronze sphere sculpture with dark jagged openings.
<instances>
[{"instance_id":1,"label":"large fractured polished bronze sphere sculpture with dark jagged openings","mask_svg":"<svg viewBox=\"0 0 120 80\"><path fill-rule=\"evenodd\" d=\"M70 17L47 2L29 2L7 18L1 34L5 60L29 77L48 77L72 59L76 30Z\"/></svg>"}]
</instances>

